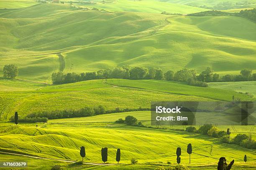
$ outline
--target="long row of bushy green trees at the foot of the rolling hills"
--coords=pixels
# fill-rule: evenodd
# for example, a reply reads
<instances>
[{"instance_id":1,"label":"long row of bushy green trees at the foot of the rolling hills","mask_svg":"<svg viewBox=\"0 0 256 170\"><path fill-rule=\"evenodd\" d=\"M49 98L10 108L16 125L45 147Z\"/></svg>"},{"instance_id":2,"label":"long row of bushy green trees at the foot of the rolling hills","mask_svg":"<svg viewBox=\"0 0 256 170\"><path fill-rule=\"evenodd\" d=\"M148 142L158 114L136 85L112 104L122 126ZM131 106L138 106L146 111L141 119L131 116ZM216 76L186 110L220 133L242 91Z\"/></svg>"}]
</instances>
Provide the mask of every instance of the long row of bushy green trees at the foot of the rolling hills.
<instances>
[{"instance_id":1,"label":"long row of bushy green trees at the foot of the rolling hills","mask_svg":"<svg viewBox=\"0 0 256 170\"><path fill-rule=\"evenodd\" d=\"M79 82L84 80L95 79L108 79L108 78L120 78L129 80L167 80L167 81L179 81L187 82L188 85L207 87L207 82L232 82L232 81L256 81L256 73L252 74L252 70L243 69L240 75L224 75L220 76L214 73L210 67L207 67L199 75L196 70L189 70L184 68L177 70L176 72L169 70L163 72L160 68L147 69L144 67L130 67L125 65L123 67L115 67L113 70L105 69L97 72L85 72L85 73L67 73L54 72L52 73L53 84L65 84L72 82Z\"/></svg>"}]
</instances>

